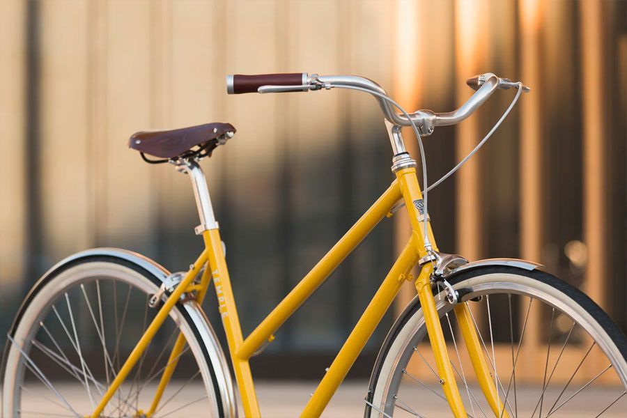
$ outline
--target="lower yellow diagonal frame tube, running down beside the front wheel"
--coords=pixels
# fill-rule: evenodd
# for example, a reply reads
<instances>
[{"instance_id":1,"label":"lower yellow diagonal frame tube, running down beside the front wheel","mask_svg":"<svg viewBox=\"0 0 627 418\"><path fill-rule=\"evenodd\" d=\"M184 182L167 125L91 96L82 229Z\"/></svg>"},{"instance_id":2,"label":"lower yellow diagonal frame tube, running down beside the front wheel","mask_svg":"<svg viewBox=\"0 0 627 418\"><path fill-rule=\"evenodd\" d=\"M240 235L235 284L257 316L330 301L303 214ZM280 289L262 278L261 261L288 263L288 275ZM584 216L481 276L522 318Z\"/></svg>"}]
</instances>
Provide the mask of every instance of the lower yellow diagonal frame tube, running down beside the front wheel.
<instances>
[{"instance_id":1,"label":"lower yellow diagonal frame tube, running down beside the front wheel","mask_svg":"<svg viewBox=\"0 0 627 418\"><path fill-rule=\"evenodd\" d=\"M333 360L325 377L316 388L316 392L309 399L301 417L319 417L322 414L337 387L344 380L346 373L353 366L355 359L362 352L374 329L380 323L389 305L392 304L403 281L407 279L410 270L417 263L415 248L414 238L410 238L379 290L366 307L364 314L359 318L355 329L350 333L337 357Z\"/></svg>"}]
</instances>

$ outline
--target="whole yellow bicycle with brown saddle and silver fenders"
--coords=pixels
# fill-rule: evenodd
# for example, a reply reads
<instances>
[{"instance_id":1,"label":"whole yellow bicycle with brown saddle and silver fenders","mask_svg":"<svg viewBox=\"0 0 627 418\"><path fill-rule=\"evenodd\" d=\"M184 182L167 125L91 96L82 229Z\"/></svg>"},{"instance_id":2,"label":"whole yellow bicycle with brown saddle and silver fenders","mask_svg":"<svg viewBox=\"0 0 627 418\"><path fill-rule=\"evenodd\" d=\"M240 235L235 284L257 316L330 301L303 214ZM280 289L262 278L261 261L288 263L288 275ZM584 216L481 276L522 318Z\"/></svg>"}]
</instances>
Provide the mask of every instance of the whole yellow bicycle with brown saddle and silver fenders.
<instances>
[{"instance_id":1,"label":"whole yellow bicycle with brown saddle and silver fenders","mask_svg":"<svg viewBox=\"0 0 627 418\"><path fill-rule=\"evenodd\" d=\"M476 92L456 111L409 114L382 87L362 77L307 73L227 76L227 92L231 94L330 88L370 93L385 117L395 177L246 339L235 307L224 243L199 165L199 160L233 137L235 128L229 123L210 123L134 134L129 146L146 162L170 163L189 175L200 217L195 232L202 235L205 249L186 272L170 273L144 256L113 248L82 251L51 268L26 296L8 333L0 380L3 415L162 417L184 412L188 417L192 413L237 416L235 384L227 358L200 307L212 282L242 409L247 417L260 416L249 359L274 340L281 324L376 224L403 207L412 234L311 394L303 417L322 414L405 281L415 284L417 296L398 317L380 349L364 398L365 417L422 417L416 411L421 403L412 399L416 394L435 396L440 402L437 413L454 417L518 417L529 412L532 416L539 412L540 417L572 416L573 405L574 410L580 408L578 401L583 395L587 395L585 403L607 398L598 407L597 416L624 412L627 340L589 297L544 272L537 263L508 258L468 262L462 256L440 252L435 243L428 190L472 156L500 125L520 93L529 91L520 82L491 73L469 79L467 84ZM517 89L516 97L493 130L447 176L429 187L421 137L433 133L435 127L460 123L497 89L508 88ZM417 134L422 191L417 162L405 149L402 127L412 127ZM415 266L419 268L416 277L412 275ZM129 307L143 308L143 316L129 314ZM495 317L495 310L500 318ZM542 315L549 314L550 324L539 330ZM479 316L489 327L489 340L485 327L481 332ZM528 323L536 325L527 327ZM139 341L138 329L143 329ZM529 339L540 341L546 353L527 349ZM125 353L126 341L133 344L130 353ZM95 351L98 355L87 355ZM83 387L85 396L78 404L63 395L61 378L51 380L47 372L53 368ZM471 372L478 386L469 383ZM528 391L521 385L530 373L543 375L541 393L523 399ZM33 383L37 381L40 383ZM177 383L174 390L173 382L183 384ZM188 386L192 382L195 389ZM201 392L198 399L175 405L181 393L194 390ZM30 410L32 405L23 402L28 396L43 402L45 410ZM166 405L174 409L165 410Z\"/></svg>"}]
</instances>

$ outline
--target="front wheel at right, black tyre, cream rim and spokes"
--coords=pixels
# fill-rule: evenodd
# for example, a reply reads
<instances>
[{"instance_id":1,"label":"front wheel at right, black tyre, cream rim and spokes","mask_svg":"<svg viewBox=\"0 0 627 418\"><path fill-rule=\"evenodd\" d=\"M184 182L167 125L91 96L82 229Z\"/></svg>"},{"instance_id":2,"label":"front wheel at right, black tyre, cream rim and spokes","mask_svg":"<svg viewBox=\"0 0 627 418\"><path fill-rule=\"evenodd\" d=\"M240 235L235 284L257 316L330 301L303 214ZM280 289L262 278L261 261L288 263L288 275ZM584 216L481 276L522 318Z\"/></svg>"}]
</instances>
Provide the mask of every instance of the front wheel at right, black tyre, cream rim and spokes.
<instances>
[{"instance_id":1,"label":"front wheel at right, black tyre, cream rim and spokes","mask_svg":"<svg viewBox=\"0 0 627 418\"><path fill-rule=\"evenodd\" d=\"M504 405L500 417L625 416L627 339L584 293L545 272L513 267L467 270L449 282L470 308ZM467 415L494 416L454 306L440 290L435 300ZM366 417L451 416L417 298L389 332L366 400Z\"/></svg>"}]
</instances>

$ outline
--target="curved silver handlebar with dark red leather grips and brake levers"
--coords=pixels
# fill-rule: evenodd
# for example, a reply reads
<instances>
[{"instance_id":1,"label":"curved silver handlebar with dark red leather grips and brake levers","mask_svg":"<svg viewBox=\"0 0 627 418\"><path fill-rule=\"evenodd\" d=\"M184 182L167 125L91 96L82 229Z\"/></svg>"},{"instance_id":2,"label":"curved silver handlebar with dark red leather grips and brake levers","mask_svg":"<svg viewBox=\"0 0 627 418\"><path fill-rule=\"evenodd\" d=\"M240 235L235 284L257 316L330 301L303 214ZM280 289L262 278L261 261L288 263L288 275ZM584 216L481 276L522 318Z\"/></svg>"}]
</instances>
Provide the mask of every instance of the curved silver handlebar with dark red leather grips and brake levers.
<instances>
[{"instance_id":1,"label":"curved silver handlebar with dark red leather grips and brake levers","mask_svg":"<svg viewBox=\"0 0 627 418\"><path fill-rule=\"evenodd\" d=\"M528 92L529 88L520 83L513 83L509 79L501 79L491 72L472 77L466 82L476 92L461 107L455 111L436 113L431 110L419 110L409 114L411 121L417 125L421 134L433 133L436 126L455 125L470 116L481 104L496 91L497 88L522 88ZM333 87L354 87L371 93L379 102L383 115L390 123L398 126L411 125L410 120L403 114L396 113L393 105L385 100L387 93L376 82L355 75L308 75L307 72L290 74L265 75L227 75L226 92L240 93L284 93L289 91L317 91Z\"/></svg>"}]
</instances>

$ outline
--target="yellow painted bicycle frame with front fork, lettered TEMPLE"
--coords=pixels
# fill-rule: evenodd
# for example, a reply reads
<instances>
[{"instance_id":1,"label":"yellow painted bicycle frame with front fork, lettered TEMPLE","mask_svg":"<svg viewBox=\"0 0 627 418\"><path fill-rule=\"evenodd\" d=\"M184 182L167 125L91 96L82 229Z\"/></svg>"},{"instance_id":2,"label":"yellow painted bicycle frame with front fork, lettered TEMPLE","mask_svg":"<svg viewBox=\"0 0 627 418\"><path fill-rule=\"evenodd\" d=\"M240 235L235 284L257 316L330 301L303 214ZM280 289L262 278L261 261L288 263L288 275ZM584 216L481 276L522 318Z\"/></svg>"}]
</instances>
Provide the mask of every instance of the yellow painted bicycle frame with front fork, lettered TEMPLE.
<instances>
[{"instance_id":1,"label":"yellow painted bicycle frame with front fork, lettered TEMPLE","mask_svg":"<svg viewBox=\"0 0 627 418\"><path fill-rule=\"evenodd\" d=\"M237 308L235 307L229 271L226 268L226 260L224 258L219 229L215 228L204 231L203 239L205 242L205 250L191 266L183 281L180 282L173 293L169 295L166 302L164 302L157 316L155 316L153 322L150 323L150 326L148 326L146 332L144 332L144 335L139 339L137 346L135 346L130 356L126 359L118 375L114 381L111 382L111 386L107 389L107 392L102 397L102 400L91 417L97 418L102 410L104 410L104 407L120 387L121 383L127 378L128 374L141 357L141 354L146 350L148 343L150 343L150 340L167 318L169 311L174 304L178 302L183 293L196 291L196 299L201 302L206 295L210 279L212 279L215 286L218 309L222 316L222 324L226 332L231 361L233 362L233 370L235 371L235 380L240 390L245 416L260 417L261 414L259 412L249 366L250 357L263 348L265 344L272 342L274 332L276 332L285 320L316 291L316 288L318 288L344 258L359 245L359 242L369 234L374 226L376 226L383 217L389 215L392 207L401 199L403 199L405 208L408 210L412 224L412 235L302 412L302 417L320 416L327 403L336 392L336 389L346 377L346 373L348 373L350 367L353 366L355 359L357 359L357 356L361 353L375 327L380 323L382 316L385 314L390 304L392 304L403 281L413 279L410 270L417 265L420 258L427 255L424 248L423 236L424 217L419 212L418 205L415 205L415 202L422 199L422 194L418 185L416 170L413 167L396 171L396 180L392 182L392 185L390 185L382 196L373 203L371 208L359 218L355 225L348 230L339 242L327 252L318 264L311 269L302 281L293 288L284 300L270 312L268 317L251 332L247 339L243 339L242 336L240 320L238 318ZM431 225L428 224L428 219L426 219L426 222L428 238L431 241L433 249L437 251ZM208 268L205 274L203 274L200 283L194 284L194 279L201 271L203 265L208 265ZM440 317L435 308L430 281L432 272L433 265L431 263L422 265L420 273L417 279L415 279L415 286L421 307L424 311L427 332L431 341L431 348L435 356L438 373L442 380L444 395L455 417L467 417L456 385L451 362L447 354L447 346L444 341L442 327L440 326ZM458 304L456 305L455 314L460 324L463 339L466 341L474 371L477 373L479 385L481 386L483 394L488 399L490 407L495 412L495 415L497 417L507 417L508 415L504 412L502 403L500 403L498 399L498 391L495 389L492 380L490 380L490 373L483 353L481 352L481 347L478 343L475 343L478 341L477 334L468 320L470 315L467 309L465 304ZM146 416L152 416L156 410L163 390L169 382L173 370L176 367L178 356L184 346L185 338L181 334L172 350L160 385L157 387L153 404L150 406L150 410L146 412ZM143 414L144 412L140 413Z\"/></svg>"}]
</instances>

